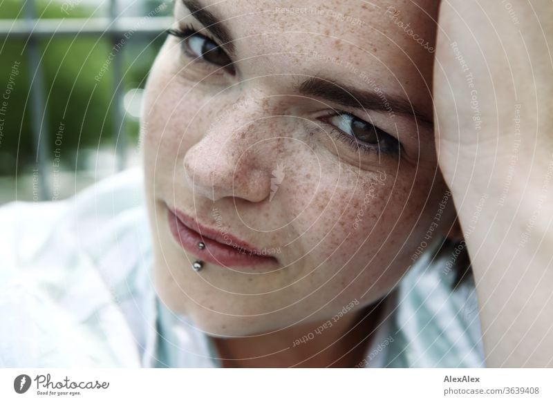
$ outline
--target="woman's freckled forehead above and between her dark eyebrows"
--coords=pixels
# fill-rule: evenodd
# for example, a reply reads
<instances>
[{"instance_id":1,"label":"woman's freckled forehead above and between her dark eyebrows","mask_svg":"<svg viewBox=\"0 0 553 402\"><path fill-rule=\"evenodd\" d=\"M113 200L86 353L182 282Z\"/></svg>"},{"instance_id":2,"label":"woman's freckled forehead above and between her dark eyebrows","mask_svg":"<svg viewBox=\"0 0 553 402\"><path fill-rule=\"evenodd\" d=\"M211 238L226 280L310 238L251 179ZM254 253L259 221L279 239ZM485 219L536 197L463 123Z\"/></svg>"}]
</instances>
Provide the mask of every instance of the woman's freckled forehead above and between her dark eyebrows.
<instances>
[{"instance_id":1,"label":"woman's freckled forehead above and between her dark eyebrows","mask_svg":"<svg viewBox=\"0 0 553 402\"><path fill-rule=\"evenodd\" d=\"M176 0L182 21L191 19L190 1ZM254 75L323 72L354 86L375 79L429 103L438 1L192 2L221 21Z\"/></svg>"}]
</instances>

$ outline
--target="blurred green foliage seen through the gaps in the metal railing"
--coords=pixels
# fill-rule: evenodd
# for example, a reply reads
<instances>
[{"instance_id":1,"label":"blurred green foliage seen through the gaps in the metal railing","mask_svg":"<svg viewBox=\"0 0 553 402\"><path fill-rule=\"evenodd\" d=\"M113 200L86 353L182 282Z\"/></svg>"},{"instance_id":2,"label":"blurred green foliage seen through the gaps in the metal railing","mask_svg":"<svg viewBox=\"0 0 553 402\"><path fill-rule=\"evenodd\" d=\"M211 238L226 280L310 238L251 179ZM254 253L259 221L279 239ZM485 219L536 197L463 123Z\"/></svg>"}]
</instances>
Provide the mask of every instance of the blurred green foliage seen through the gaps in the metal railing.
<instances>
[{"instance_id":1,"label":"blurred green foliage seen through the gaps in the metal railing","mask_svg":"<svg viewBox=\"0 0 553 402\"><path fill-rule=\"evenodd\" d=\"M20 0L0 1L2 18L22 17ZM92 10L76 6L71 17L89 17ZM61 10L61 3L37 1L37 16L41 18L68 17ZM153 59L162 44L162 38L150 43L131 37L118 51L108 37L48 37L40 39L39 51L44 76L44 133L47 133L47 157L54 158L55 149L63 166L75 169L79 149L113 146L113 61L106 72L95 79L106 63L110 52L122 57L123 93L131 88L143 88ZM34 166L36 151L32 134L30 71L26 39L0 40L0 101L10 82L10 72L19 61L19 74L8 99L8 113L0 137L0 175L28 173ZM139 56L140 55L140 56ZM31 76L30 76L30 75ZM13 75L12 75L13 78ZM118 83L119 84L119 83ZM0 102L1 104L1 102ZM41 114L42 120L42 114ZM60 124L64 124L62 144L55 142ZM126 122L126 133L136 139L138 124ZM119 128L117 128L119 129Z\"/></svg>"}]
</instances>

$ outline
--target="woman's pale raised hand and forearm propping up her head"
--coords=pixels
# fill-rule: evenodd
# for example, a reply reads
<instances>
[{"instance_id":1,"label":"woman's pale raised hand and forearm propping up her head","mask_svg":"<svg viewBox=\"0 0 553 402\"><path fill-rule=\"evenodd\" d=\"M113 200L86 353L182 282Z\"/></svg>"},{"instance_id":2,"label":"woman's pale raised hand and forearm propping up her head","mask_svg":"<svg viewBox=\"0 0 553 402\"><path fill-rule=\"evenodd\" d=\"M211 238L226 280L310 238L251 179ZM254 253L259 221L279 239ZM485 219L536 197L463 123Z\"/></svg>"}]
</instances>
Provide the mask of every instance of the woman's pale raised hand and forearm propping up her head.
<instances>
[{"instance_id":1,"label":"woman's pale raised hand and forearm propping up her head","mask_svg":"<svg viewBox=\"0 0 553 402\"><path fill-rule=\"evenodd\" d=\"M438 160L474 269L487 365L553 365L553 3L444 0Z\"/></svg>"}]
</instances>

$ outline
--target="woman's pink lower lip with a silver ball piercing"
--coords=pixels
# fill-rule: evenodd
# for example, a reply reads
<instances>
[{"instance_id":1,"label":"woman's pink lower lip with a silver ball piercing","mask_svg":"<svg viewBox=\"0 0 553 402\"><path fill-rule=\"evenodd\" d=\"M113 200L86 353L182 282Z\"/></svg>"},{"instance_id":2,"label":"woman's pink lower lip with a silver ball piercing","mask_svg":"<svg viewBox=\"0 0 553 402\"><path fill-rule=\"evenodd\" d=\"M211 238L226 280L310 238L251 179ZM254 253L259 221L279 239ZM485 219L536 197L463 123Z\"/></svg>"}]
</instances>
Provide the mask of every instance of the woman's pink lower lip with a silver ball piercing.
<instances>
[{"instance_id":1,"label":"woman's pink lower lip with a silver ball piercing","mask_svg":"<svg viewBox=\"0 0 553 402\"><path fill-rule=\"evenodd\" d=\"M205 262L212 262L221 267L252 267L259 265L277 264L277 260L273 257L255 256L247 252L239 252L236 248L224 245L212 239L202 238L200 233L189 229L185 224L180 222L177 216L167 209L167 218L169 219L169 228L176 242L188 251L189 253L198 256L198 259ZM205 249L199 249L198 244L203 242Z\"/></svg>"}]
</instances>

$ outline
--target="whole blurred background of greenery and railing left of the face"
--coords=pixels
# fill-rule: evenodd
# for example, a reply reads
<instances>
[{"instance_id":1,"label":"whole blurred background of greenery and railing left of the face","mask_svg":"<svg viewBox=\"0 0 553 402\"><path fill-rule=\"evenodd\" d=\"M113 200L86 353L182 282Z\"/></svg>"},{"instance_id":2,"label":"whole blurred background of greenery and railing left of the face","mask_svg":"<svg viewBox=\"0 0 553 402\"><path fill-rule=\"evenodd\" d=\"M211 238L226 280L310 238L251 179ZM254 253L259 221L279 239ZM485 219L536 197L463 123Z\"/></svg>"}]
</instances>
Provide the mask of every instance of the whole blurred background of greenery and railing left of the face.
<instances>
[{"instance_id":1,"label":"whole blurred background of greenery and railing left of the face","mask_svg":"<svg viewBox=\"0 0 553 402\"><path fill-rule=\"evenodd\" d=\"M140 162L171 0L0 0L0 204L61 200Z\"/></svg>"}]
</instances>

